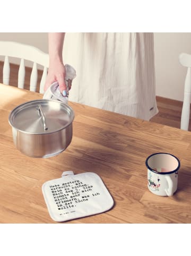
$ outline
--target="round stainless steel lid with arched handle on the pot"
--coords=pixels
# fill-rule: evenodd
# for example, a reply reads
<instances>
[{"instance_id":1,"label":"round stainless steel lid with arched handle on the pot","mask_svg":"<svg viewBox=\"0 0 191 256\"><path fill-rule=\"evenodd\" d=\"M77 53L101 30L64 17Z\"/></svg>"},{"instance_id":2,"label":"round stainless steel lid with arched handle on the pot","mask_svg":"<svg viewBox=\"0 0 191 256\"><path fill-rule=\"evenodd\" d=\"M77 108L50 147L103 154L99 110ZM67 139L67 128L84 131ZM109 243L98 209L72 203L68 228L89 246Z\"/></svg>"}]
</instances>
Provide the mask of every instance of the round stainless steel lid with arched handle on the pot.
<instances>
[{"instance_id":1,"label":"round stainless steel lid with arched handle on the pot","mask_svg":"<svg viewBox=\"0 0 191 256\"><path fill-rule=\"evenodd\" d=\"M41 99L23 103L12 110L8 121L16 130L30 134L53 133L73 122L73 109L58 100Z\"/></svg>"}]
</instances>

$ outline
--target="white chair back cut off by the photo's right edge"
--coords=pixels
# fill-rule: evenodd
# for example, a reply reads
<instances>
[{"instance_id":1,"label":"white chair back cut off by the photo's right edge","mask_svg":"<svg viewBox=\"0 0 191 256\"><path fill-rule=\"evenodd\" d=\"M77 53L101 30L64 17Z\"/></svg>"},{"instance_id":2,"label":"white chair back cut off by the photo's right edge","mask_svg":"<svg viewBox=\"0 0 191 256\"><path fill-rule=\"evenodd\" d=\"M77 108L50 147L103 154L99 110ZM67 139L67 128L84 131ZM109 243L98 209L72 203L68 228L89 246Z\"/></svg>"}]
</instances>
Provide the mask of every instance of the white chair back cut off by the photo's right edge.
<instances>
[{"instance_id":1,"label":"white chair back cut off by the photo's right edge","mask_svg":"<svg viewBox=\"0 0 191 256\"><path fill-rule=\"evenodd\" d=\"M184 100L183 109L181 113L180 129L188 131L189 115L190 115L190 95L191 95L191 55L181 53L179 55L179 62L181 65L187 67L187 74L184 85Z\"/></svg>"}]
</instances>

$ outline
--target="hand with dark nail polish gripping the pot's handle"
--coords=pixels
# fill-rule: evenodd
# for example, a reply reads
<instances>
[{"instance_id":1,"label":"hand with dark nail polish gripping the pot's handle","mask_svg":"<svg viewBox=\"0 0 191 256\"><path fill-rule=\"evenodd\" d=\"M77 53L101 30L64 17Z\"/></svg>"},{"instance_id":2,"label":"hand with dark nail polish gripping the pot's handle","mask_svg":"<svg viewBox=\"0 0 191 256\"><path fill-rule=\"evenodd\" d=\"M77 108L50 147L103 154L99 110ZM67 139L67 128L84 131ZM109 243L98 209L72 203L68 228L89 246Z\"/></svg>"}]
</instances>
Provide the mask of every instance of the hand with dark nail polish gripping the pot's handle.
<instances>
[{"instance_id":1,"label":"hand with dark nail polish gripping the pot's handle","mask_svg":"<svg viewBox=\"0 0 191 256\"><path fill-rule=\"evenodd\" d=\"M65 83L66 70L64 64L59 60L54 60L50 62L48 75L45 82L44 90L46 91L48 87L54 83L58 82L60 92L63 96L68 96L68 90L71 89L71 84L68 84L68 89Z\"/></svg>"}]
</instances>

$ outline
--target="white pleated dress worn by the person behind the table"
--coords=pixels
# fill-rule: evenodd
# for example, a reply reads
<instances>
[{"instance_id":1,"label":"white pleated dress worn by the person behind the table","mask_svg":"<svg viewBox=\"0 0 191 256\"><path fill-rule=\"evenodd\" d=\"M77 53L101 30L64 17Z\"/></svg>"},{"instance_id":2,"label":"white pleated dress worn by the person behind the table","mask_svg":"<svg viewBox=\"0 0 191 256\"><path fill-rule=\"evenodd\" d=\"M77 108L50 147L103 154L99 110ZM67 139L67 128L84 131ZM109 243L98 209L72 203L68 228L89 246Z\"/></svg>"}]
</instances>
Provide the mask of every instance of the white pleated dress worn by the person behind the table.
<instances>
[{"instance_id":1,"label":"white pleated dress worn by the person behind the table","mask_svg":"<svg viewBox=\"0 0 191 256\"><path fill-rule=\"evenodd\" d=\"M70 101L144 120L158 113L153 33L66 33L63 61L76 70Z\"/></svg>"}]
</instances>

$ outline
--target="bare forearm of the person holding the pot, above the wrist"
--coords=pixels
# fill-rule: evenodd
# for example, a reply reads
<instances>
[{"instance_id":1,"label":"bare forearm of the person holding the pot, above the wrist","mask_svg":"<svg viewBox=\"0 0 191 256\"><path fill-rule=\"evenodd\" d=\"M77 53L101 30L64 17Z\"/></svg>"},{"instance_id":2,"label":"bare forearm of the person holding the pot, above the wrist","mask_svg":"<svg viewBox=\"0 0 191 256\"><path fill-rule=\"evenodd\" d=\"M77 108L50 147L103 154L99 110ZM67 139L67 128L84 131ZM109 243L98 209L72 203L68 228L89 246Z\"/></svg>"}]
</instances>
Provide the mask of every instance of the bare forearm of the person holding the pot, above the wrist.
<instances>
[{"instance_id":1,"label":"bare forearm of the person holding the pot, above the wrist","mask_svg":"<svg viewBox=\"0 0 191 256\"><path fill-rule=\"evenodd\" d=\"M51 61L60 61L63 63L62 52L65 33L48 33L48 52Z\"/></svg>"}]
</instances>

